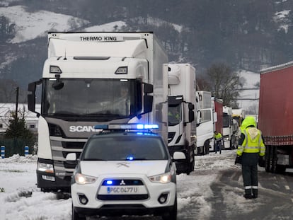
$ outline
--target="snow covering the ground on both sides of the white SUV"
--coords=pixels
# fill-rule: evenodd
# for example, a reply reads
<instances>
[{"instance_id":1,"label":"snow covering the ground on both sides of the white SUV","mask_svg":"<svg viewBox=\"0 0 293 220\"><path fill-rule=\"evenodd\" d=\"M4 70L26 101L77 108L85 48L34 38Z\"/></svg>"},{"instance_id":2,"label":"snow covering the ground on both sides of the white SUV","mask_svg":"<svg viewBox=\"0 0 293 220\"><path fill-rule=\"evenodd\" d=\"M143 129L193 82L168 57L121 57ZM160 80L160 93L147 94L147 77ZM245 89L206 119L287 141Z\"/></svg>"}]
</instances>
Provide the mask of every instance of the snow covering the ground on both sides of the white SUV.
<instances>
[{"instance_id":1,"label":"snow covering the ground on both sides of the white SUV","mask_svg":"<svg viewBox=\"0 0 293 220\"><path fill-rule=\"evenodd\" d=\"M186 217L180 210L190 203L197 204L198 219L208 219L212 212L209 186L217 181L219 170L235 166L235 154L235 151L222 151L221 155L196 156L195 171L177 175L179 219ZM71 219L71 199L57 200L53 193L40 192L36 187L36 161L36 156L31 155L0 158L0 219ZM241 196L234 198L235 201L245 202Z\"/></svg>"}]
</instances>

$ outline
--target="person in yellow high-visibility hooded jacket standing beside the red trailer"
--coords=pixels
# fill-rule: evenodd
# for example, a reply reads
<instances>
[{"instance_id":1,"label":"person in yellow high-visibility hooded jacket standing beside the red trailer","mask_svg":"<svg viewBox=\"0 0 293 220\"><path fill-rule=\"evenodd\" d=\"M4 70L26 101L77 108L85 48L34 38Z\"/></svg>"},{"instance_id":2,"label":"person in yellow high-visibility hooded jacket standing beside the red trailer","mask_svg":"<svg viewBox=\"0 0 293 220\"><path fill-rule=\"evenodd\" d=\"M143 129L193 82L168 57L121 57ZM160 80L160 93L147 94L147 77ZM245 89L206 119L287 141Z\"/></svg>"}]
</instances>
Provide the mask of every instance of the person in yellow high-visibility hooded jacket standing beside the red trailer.
<instances>
[{"instance_id":1,"label":"person in yellow high-visibility hooded jacket standing beside the red trailer","mask_svg":"<svg viewBox=\"0 0 293 220\"><path fill-rule=\"evenodd\" d=\"M244 197L251 199L258 197L258 162L265 156L265 144L254 117L246 117L243 123L235 163L242 164Z\"/></svg>"}]
</instances>

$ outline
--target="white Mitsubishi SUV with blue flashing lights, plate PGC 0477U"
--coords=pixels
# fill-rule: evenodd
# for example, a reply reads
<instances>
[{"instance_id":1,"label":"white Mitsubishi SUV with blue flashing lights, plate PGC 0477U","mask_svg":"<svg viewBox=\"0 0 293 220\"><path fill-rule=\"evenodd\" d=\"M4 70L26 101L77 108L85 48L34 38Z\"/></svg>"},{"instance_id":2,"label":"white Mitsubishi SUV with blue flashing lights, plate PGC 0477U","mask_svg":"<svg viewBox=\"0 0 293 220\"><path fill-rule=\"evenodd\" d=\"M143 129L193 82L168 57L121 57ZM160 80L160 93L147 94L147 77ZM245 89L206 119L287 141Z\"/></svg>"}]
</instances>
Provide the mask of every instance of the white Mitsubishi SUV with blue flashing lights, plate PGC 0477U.
<instances>
[{"instance_id":1,"label":"white Mitsubishi SUV with blue flashing lights, plate PGC 0477U","mask_svg":"<svg viewBox=\"0 0 293 220\"><path fill-rule=\"evenodd\" d=\"M71 180L71 198L72 219L154 214L175 220L176 166L158 134L108 128L88 138Z\"/></svg>"}]
</instances>

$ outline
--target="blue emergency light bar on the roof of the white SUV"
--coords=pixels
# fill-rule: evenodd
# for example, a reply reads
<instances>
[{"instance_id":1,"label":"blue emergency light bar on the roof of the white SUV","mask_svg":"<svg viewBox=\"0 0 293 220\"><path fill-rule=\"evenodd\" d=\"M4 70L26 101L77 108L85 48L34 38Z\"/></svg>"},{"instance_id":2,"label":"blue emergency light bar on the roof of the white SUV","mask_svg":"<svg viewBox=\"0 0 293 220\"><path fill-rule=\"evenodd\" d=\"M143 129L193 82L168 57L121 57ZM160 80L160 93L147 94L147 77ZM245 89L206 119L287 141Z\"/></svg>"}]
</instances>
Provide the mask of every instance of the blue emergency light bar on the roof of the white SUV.
<instances>
[{"instance_id":1,"label":"blue emergency light bar on the roof of the white SUV","mask_svg":"<svg viewBox=\"0 0 293 220\"><path fill-rule=\"evenodd\" d=\"M159 129L159 125L144 125L144 124L110 124L110 125L96 125L95 129L129 129L129 130L146 130Z\"/></svg>"}]
</instances>

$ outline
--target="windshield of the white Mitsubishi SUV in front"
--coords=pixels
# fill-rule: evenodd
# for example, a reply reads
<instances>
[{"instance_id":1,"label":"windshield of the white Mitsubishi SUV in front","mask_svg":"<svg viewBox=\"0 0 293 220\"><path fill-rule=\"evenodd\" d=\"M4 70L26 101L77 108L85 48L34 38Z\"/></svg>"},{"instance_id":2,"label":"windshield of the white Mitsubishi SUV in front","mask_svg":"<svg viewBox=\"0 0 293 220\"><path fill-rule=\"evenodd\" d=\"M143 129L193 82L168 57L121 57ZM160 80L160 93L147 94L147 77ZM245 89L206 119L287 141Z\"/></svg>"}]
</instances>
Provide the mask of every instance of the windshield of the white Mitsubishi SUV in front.
<instances>
[{"instance_id":1,"label":"windshield of the white Mitsubishi SUV in front","mask_svg":"<svg viewBox=\"0 0 293 220\"><path fill-rule=\"evenodd\" d=\"M98 137L86 144L81 161L167 160L157 137Z\"/></svg>"}]
</instances>

